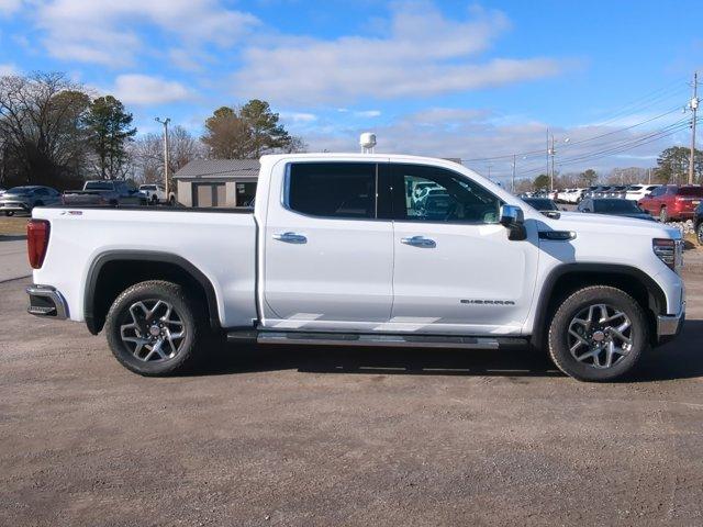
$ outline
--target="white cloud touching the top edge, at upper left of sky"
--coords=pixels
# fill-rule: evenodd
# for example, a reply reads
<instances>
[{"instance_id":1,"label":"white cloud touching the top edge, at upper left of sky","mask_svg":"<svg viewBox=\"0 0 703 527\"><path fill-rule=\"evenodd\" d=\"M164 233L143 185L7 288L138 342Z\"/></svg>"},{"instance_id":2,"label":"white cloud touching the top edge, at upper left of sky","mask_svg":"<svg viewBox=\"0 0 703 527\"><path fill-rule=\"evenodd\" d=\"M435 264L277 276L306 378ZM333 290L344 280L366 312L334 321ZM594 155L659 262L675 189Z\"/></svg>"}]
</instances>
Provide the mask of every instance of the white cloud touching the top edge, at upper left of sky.
<instances>
[{"instance_id":1,"label":"white cloud touching the top edge, at upper left of sky","mask_svg":"<svg viewBox=\"0 0 703 527\"><path fill-rule=\"evenodd\" d=\"M135 21L176 35L191 48L232 45L258 23L215 0L51 0L37 5L36 19L51 55L109 66L131 64L142 49L140 36L126 29Z\"/></svg>"}]
</instances>

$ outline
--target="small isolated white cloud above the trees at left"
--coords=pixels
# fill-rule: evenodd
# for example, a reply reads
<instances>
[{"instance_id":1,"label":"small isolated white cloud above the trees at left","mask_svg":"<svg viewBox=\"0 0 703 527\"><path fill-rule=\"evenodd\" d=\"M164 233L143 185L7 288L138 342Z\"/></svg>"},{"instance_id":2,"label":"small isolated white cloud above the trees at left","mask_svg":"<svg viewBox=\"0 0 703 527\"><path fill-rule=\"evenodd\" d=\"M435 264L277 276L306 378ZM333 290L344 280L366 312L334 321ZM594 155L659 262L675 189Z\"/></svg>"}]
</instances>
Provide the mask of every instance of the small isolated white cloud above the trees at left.
<instances>
[{"instance_id":1,"label":"small isolated white cloud above the trees at left","mask_svg":"<svg viewBox=\"0 0 703 527\"><path fill-rule=\"evenodd\" d=\"M180 82L148 75L120 75L108 91L125 104L149 105L192 99L193 94Z\"/></svg>"}]
</instances>

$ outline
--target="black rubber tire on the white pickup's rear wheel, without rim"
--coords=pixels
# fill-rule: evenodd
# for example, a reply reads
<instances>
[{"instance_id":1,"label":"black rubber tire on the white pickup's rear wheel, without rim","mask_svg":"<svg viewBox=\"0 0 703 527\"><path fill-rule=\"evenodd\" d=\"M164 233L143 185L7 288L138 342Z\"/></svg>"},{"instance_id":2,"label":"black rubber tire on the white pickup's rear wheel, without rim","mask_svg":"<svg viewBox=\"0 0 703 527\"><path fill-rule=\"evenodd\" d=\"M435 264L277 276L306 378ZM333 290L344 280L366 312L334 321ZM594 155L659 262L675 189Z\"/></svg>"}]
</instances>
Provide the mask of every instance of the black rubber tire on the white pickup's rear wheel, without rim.
<instances>
[{"instance_id":1,"label":"black rubber tire on the white pickup's rear wheel, without rim","mask_svg":"<svg viewBox=\"0 0 703 527\"><path fill-rule=\"evenodd\" d=\"M172 357L154 357L153 359L146 357L147 360L144 360L144 357L138 357L138 355L149 355L149 352L154 350L154 344L143 343L142 351L136 352L135 348L138 344L125 341L123 339L122 328L135 322L135 318L130 312L130 307L134 307L136 303L141 302L142 305L148 309L154 302L158 301L161 301L160 310L164 309L164 304L172 307L170 317L179 318L182 322L181 327L185 336L178 340L171 340L171 344L175 346L172 349L176 349ZM143 329L142 333L138 333L140 329L125 329L124 336L137 338L143 335L149 336L149 338L157 338L150 337L147 332L154 327L154 324L157 323L156 321L163 321L163 318L158 317L159 314L164 313L164 311L160 310L154 307L154 311L157 313L150 318L148 316L144 317L144 325L140 325L140 329ZM137 315L140 312L146 313L146 311L143 311L141 307L134 307L134 312ZM203 321L197 313L203 313L203 310L198 309L198 303L190 299L183 291L183 288L176 283L161 280L136 283L123 291L122 294L115 299L108 312L104 327L108 344L110 345L112 354L122 366L141 375L160 377L188 371L196 366L197 359L202 355L198 351L198 344L205 334ZM148 324L149 321L152 321L152 326ZM168 340L165 341L167 343ZM149 345L152 349L148 348ZM169 345L164 344L164 348L159 347L159 349L168 351L169 347ZM153 352L152 356L154 356Z\"/></svg>"}]
</instances>

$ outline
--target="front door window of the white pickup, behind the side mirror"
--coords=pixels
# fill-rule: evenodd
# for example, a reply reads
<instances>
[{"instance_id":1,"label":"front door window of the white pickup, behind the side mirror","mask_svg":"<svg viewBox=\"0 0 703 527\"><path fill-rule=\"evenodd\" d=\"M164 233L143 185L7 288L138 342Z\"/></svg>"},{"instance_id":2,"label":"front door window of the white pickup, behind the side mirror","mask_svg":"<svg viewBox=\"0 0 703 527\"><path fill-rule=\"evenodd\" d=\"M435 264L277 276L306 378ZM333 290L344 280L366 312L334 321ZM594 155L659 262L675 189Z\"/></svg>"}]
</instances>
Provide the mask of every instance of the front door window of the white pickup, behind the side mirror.
<instances>
[{"instance_id":1,"label":"front door window of the white pickup, behind the side mirror","mask_svg":"<svg viewBox=\"0 0 703 527\"><path fill-rule=\"evenodd\" d=\"M501 201L461 175L419 165L393 165L392 171L393 188L403 189L402 194L394 195L394 216L399 220L461 223L499 220Z\"/></svg>"}]
</instances>

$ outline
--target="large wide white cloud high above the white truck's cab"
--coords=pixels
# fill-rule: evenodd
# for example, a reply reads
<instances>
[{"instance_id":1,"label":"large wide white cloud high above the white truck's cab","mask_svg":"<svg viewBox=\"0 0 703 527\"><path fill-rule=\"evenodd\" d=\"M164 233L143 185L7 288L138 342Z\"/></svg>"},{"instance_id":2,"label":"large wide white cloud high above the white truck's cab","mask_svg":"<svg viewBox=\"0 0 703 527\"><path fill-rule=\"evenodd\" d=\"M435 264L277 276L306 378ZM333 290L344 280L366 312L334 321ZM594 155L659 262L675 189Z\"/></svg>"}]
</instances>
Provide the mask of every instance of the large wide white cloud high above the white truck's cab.
<instances>
[{"instance_id":1,"label":"large wide white cloud high above the white truck's cab","mask_svg":"<svg viewBox=\"0 0 703 527\"><path fill-rule=\"evenodd\" d=\"M286 38L244 51L234 83L241 97L320 104L361 98L429 97L560 72L550 58L478 61L507 27L495 11L449 20L428 3L395 7L386 37ZM286 79L281 82L280 79Z\"/></svg>"}]
</instances>

